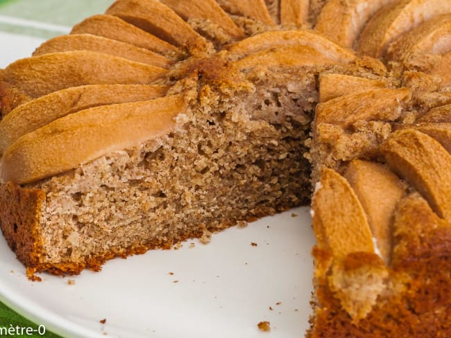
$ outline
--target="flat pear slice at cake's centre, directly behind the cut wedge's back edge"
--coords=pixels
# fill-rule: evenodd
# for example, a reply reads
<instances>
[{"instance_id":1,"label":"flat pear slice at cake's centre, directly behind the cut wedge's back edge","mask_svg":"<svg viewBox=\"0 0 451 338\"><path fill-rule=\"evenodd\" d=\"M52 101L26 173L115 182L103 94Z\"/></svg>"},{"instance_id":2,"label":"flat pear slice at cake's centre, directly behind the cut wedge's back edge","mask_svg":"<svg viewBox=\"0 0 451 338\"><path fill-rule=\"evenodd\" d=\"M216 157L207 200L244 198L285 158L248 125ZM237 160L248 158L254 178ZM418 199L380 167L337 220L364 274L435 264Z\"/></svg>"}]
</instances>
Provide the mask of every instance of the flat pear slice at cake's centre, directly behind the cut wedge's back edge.
<instances>
[{"instance_id":1,"label":"flat pear slice at cake's centre, directly behind the cut wedge's back edge","mask_svg":"<svg viewBox=\"0 0 451 338\"><path fill-rule=\"evenodd\" d=\"M238 69L250 69L255 66L319 66L340 62L327 57L309 46L280 46L250 54L241 60L232 62Z\"/></svg>"}]
</instances>

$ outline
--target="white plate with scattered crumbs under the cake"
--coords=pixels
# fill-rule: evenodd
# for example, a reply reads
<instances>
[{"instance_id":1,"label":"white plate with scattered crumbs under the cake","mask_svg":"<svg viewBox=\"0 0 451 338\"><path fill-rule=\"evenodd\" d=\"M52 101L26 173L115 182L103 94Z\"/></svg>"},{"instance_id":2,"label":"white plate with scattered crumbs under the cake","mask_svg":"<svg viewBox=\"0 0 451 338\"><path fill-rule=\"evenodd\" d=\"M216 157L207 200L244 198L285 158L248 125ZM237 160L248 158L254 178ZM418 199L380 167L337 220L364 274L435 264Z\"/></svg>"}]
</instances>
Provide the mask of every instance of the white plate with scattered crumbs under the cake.
<instances>
[{"instance_id":1,"label":"white plate with scattered crumbs under the cake","mask_svg":"<svg viewBox=\"0 0 451 338\"><path fill-rule=\"evenodd\" d=\"M10 48L0 67L39 43L1 33L0 45ZM189 240L178 250L111 260L100 273L42 274L41 283L28 281L0 235L0 300L64 337L303 337L311 224L309 208L295 208L213 235L210 244ZM271 332L259 331L260 321L269 321Z\"/></svg>"}]
</instances>

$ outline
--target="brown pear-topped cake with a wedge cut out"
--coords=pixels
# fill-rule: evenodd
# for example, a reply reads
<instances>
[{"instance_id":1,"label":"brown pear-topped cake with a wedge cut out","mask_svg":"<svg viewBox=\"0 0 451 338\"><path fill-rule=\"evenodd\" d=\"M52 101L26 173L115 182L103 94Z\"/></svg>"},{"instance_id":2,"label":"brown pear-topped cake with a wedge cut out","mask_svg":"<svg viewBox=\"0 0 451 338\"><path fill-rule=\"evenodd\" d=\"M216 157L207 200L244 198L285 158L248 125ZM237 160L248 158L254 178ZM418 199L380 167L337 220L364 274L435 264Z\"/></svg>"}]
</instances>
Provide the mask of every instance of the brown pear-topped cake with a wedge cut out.
<instances>
[{"instance_id":1,"label":"brown pear-topped cake with a wedge cut out","mask_svg":"<svg viewBox=\"0 0 451 338\"><path fill-rule=\"evenodd\" d=\"M0 71L35 272L312 203L307 337L451 335L451 1L118 0Z\"/></svg>"}]
</instances>

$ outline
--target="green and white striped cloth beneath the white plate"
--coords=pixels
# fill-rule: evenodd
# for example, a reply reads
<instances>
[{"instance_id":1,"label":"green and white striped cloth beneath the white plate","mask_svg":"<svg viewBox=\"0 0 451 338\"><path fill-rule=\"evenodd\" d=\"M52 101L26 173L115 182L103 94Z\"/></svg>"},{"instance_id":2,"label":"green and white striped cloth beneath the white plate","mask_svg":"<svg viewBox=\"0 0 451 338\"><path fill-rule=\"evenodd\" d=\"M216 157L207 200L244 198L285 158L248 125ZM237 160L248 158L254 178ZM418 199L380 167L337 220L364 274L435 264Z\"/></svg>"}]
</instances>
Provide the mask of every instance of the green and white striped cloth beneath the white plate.
<instances>
[{"instance_id":1,"label":"green and white striped cloth beneath the white plate","mask_svg":"<svg viewBox=\"0 0 451 338\"><path fill-rule=\"evenodd\" d=\"M90 15L105 12L112 0L0 0L0 32L49 39L69 33L71 26ZM8 53L2 46L0 53ZM26 55L24 55L26 56ZM25 268L24 268L25 269ZM39 335L39 323L31 323L0 303L0 335L5 337L59 337ZM11 327L33 328L31 335L3 335ZM28 330L31 332L31 330ZM23 331L26 332L26 331Z\"/></svg>"}]
</instances>

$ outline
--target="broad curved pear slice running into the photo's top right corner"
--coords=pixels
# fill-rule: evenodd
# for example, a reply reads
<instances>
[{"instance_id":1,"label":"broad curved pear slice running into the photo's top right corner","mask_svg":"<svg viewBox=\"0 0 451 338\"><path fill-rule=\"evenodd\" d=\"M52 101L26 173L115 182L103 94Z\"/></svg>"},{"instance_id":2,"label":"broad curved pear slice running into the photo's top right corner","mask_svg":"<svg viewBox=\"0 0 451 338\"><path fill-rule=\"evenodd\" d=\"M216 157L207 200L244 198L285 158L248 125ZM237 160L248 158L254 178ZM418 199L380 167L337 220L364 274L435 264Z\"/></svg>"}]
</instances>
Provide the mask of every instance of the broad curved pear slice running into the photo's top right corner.
<instances>
[{"instance_id":1,"label":"broad curved pear slice running into the photo's top right corner","mask_svg":"<svg viewBox=\"0 0 451 338\"><path fill-rule=\"evenodd\" d=\"M366 24L357 43L359 53L382 57L400 35L438 15L451 12L451 0L401 0L382 8Z\"/></svg>"}]
</instances>

